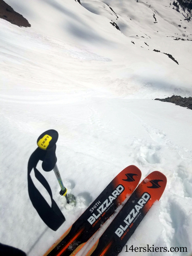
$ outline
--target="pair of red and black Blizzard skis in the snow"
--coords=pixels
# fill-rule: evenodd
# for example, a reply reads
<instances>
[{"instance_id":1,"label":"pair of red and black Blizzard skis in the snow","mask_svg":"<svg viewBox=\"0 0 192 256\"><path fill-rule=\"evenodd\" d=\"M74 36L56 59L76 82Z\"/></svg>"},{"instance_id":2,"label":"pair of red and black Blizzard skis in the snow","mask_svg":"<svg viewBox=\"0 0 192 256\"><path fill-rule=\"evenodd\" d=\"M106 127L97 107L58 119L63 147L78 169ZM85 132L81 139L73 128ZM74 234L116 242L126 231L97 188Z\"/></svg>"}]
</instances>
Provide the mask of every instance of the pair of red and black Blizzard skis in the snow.
<instances>
[{"instance_id":1,"label":"pair of red and black Blizzard skis in the snow","mask_svg":"<svg viewBox=\"0 0 192 256\"><path fill-rule=\"evenodd\" d=\"M44 256L76 255L117 207L130 197L86 254L86 256L118 255L153 203L160 199L167 182L165 175L158 171L150 173L139 184L140 178L139 168L134 165L126 167Z\"/></svg>"}]
</instances>

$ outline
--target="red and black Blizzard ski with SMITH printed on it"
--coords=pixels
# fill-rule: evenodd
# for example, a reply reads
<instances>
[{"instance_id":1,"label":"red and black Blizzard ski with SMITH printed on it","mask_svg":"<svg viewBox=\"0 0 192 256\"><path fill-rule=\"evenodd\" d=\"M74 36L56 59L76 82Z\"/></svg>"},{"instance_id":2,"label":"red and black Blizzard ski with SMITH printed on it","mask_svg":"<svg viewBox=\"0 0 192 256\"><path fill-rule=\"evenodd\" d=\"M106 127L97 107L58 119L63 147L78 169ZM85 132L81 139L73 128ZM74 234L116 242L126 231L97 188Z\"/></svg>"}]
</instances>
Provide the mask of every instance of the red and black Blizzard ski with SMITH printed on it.
<instances>
[{"instance_id":1,"label":"red and black Blizzard ski with SMITH printed on it","mask_svg":"<svg viewBox=\"0 0 192 256\"><path fill-rule=\"evenodd\" d=\"M75 255L116 208L131 196L141 178L134 165L126 167L109 183L76 222L56 241L44 256Z\"/></svg>"}]
</instances>

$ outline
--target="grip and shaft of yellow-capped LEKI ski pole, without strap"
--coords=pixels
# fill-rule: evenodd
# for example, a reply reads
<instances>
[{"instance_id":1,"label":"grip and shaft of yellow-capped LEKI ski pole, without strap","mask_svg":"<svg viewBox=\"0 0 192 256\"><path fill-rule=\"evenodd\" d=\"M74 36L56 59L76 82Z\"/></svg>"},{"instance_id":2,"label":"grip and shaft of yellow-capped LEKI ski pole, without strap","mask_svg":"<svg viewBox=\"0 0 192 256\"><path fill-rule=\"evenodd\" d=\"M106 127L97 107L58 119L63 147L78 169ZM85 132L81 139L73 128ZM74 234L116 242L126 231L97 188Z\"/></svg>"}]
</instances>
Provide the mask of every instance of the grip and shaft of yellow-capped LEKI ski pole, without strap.
<instances>
[{"instance_id":1,"label":"grip and shaft of yellow-capped LEKI ski pole, without strap","mask_svg":"<svg viewBox=\"0 0 192 256\"><path fill-rule=\"evenodd\" d=\"M67 188L64 187L60 172L58 170L58 167L56 165L57 162L57 157L55 154L56 151L56 142L58 140L59 134L55 130L48 130L46 132L43 132L38 140L37 140L37 145L40 149L43 149L45 152L44 156L42 157L43 163L42 163L42 168L46 172L50 172L51 170L54 171L57 180L59 182L61 191L59 192L61 196L65 196L67 203L69 204L69 199L67 196ZM42 152L42 153L44 153Z\"/></svg>"}]
</instances>

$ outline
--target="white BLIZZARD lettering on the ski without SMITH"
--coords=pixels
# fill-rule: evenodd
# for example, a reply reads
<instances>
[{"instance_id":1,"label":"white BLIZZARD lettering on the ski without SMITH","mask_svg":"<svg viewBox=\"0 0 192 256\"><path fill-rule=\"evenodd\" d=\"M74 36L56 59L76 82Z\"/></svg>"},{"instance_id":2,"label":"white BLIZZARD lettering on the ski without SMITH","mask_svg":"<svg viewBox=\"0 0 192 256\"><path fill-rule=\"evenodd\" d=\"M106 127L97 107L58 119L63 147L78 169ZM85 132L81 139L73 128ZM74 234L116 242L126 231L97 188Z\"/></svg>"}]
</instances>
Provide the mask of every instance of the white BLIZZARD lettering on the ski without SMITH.
<instances>
[{"instance_id":1,"label":"white BLIZZARD lettering on the ski without SMITH","mask_svg":"<svg viewBox=\"0 0 192 256\"><path fill-rule=\"evenodd\" d=\"M128 228L128 226L132 223L132 221L135 219L135 217L138 215L140 209L143 208L143 205L148 202L150 199L150 195L148 193L144 193L137 204L135 204L134 208L131 210L131 212L127 215L127 217L124 219L124 222L126 223L126 226L123 227L122 225L117 228L115 231L116 235L118 237L121 237L124 233L124 231Z\"/></svg>"}]
</instances>

